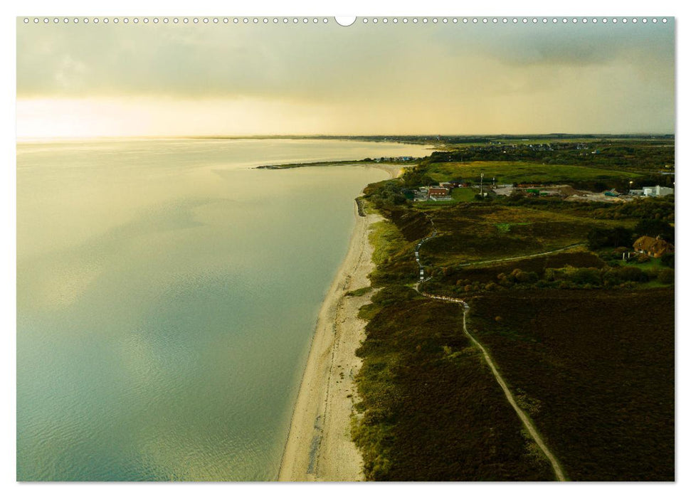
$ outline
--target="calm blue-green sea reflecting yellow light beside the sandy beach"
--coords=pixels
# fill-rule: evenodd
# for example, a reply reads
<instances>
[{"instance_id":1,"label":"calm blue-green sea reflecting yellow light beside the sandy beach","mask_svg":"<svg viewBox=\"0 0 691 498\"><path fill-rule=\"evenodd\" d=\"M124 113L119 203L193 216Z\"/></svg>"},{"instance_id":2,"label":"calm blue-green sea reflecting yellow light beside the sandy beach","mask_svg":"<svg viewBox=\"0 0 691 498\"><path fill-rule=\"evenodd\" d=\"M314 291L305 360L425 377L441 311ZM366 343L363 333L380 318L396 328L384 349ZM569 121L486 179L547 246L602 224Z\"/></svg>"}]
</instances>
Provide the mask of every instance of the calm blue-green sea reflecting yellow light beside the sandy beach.
<instances>
[{"instance_id":1,"label":"calm blue-green sea reflecting yellow light beside the sandy beach","mask_svg":"<svg viewBox=\"0 0 691 498\"><path fill-rule=\"evenodd\" d=\"M423 156L323 140L18 144L18 480L273 480L353 199Z\"/></svg>"}]
</instances>

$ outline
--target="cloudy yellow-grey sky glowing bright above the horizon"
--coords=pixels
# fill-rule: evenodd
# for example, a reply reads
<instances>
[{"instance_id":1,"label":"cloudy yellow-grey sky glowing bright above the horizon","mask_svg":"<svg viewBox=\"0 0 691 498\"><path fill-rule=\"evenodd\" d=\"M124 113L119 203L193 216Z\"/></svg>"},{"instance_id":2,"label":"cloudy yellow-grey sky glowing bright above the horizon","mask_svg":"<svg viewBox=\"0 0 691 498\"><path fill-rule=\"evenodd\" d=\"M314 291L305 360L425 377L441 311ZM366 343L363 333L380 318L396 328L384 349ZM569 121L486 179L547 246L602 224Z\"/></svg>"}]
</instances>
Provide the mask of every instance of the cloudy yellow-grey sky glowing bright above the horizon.
<instances>
[{"instance_id":1,"label":"cloudy yellow-grey sky glowing bright above the horizon","mask_svg":"<svg viewBox=\"0 0 691 498\"><path fill-rule=\"evenodd\" d=\"M348 27L321 19L18 18L17 135L675 131L673 18L403 24L399 16Z\"/></svg>"}]
</instances>

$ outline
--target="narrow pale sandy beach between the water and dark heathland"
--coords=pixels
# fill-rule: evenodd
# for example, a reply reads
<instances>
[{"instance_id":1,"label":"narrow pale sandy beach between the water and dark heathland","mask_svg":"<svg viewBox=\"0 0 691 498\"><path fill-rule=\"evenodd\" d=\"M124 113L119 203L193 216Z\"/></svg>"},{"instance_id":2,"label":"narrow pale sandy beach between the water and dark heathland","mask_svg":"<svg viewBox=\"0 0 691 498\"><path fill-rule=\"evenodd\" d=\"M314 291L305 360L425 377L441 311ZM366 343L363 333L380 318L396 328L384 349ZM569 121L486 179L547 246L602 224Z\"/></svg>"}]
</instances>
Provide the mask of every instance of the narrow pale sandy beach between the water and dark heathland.
<instances>
[{"instance_id":1,"label":"narrow pale sandy beach between the water and dark heathland","mask_svg":"<svg viewBox=\"0 0 691 498\"><path fill-rule=\"evenodd\" d=\"M399 169L389 170L396 176ZM279 481L363 480L362 457L350 438L350 415L356 396L353 378L361 361L355 349L364 340L366 322L357 318L371 293L346 292L370 285L369 226L376 214L357 216L350 248L327 293L300 383L290 433L283 452Z\"/></svg>"}]
</instances>

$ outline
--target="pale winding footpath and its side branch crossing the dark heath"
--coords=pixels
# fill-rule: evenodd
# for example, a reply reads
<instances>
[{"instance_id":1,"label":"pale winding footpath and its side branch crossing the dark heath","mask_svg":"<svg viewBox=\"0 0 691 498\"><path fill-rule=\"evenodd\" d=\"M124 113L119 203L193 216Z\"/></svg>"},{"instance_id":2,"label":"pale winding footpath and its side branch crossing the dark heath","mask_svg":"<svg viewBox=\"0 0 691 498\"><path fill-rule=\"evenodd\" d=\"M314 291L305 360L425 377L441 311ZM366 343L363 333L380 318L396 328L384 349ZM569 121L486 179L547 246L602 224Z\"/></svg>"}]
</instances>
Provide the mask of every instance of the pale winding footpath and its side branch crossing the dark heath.
<instances>
[{"instance_id":1,"label":"pale winding footpath and its side branch crossing the dark heath","mask_svg":"<svg viewBox=\"0 0 691 498\"><path fill-rule=\"evenodd\" d=\"M431 220L430 220L431 221ZM485 349L485 346L482 346L480 344L480 341L478 339L475 339L473 337L473 334L470 334L468 331L468 327L466 325L466 317L468 315L468 310L470 309L470 306L468 306L468 303L460 300L456 297L448 297L448 296L438 296L438 295L433 295L433 294L428 294L427 292L423 292L420 290L420 285L423 282L426 282L427 280L430 280L432 277L425 277L425 268L423 265L420 263L420 248L422 247L423 243L427 242L428 240L435 238L438 233L436 231L436 228L434 228L434 222L431 221L432 223L432 234L429 235L426 238L423 238L418 245L415 246L415 260L418 263L418 267L420 268L420 280L418 283L415 285L415 290L419 292L421 295L425 297L429 297L430 299L435 299L435 300L441 300L441 301L448 301L448 302L455 302L463 306L463 333L468 336L468 339L470 339L470 342L480 349L482 351L482 356L485 359L485 363L487 366L490 367L490 370L492 371L492 375L495 377L495 380L499 384L499 386L502 388L502 391L504 391L504 396L506 397L507 401L509 404L512 406L512 408L515 410L516 414L518 415L518 418L521 420L523 423L524 428L528 431L530 437L534 440L535 444L542 450L544 453L544 456L547 457L547 460L549 460L550 465L552 465L552 470L554 470L554 475L557 476L557 480L559 481L566 481L566 475L564 475L564 470L561 469L561 465L559 465L559 462L557 462L557 458L554 457L554 454L552 451L549 450L549 447L544 443L542 440L542 437L539 435L539 432L537 431L537 428L535 428L534 424L532 423L532 420L526 415L526 413L518 406L518 403L516 403L516 399L514 398L512 392L510 391L509 387L507 386L506 382L504 381L504 378L502 378L501 374L497 370L497 366L495 365L494 360L492 359L492 356L487 352L487 349ZM478 261L474 263L467 263L465 265L461 266L468 266L468 265L479 265L481 263L495 263L499 261L509 261L509 260L518 260L518 259L527 259L527 258L534 258L535 256L541 256L541 255L546 255L546 254L552 254L552 253L558 253L559 251L566 250L569 248L573 248L576 245L569 245L566 248L561 248L557 250L552 250L548 251L547 253L538 253L534 255L526 255L526 256L519 256L517 258L504 258L500 260L488 260L488 261Z\"/></svg>"}]
</instances>

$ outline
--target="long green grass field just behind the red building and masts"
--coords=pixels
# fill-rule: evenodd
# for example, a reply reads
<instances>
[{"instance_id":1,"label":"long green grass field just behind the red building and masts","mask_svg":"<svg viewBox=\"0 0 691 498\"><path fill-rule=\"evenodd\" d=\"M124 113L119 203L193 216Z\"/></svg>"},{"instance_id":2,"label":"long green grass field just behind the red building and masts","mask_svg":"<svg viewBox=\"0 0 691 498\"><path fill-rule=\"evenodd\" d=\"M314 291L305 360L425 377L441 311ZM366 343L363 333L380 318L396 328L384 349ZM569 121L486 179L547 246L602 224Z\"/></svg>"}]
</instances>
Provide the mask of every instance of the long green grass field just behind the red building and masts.
<instances>
[{"instance_id":1,"label":"long green grass field just behind the red building and masts","mask_svg":"<svg viewBox=\"0 0 691 498\"><path fill-rule=\"evenodd\" d=\"M534 164L512 161L475 161L469 163L446 162L430 165L429 174L436 181L457 178L480 182L480 173L485 173L487 184L496 179L497 184L513 184L528 181L567 182L608 179L628 179L639 174L628 171L567 166L564 164Z\"/></svg>"}]
</instances>

